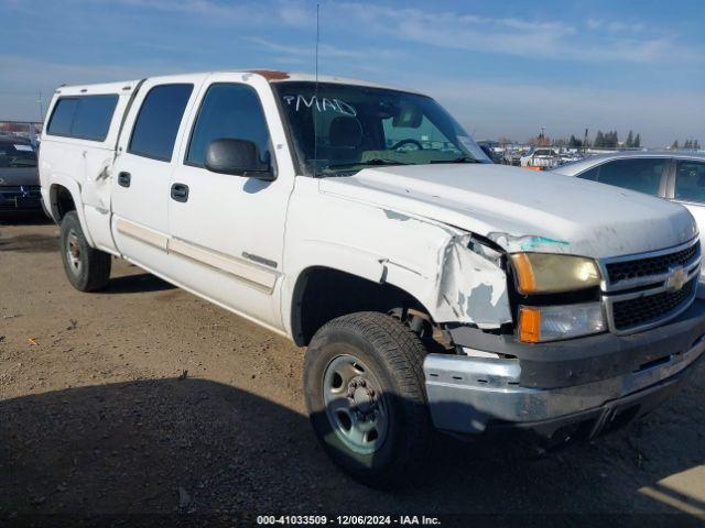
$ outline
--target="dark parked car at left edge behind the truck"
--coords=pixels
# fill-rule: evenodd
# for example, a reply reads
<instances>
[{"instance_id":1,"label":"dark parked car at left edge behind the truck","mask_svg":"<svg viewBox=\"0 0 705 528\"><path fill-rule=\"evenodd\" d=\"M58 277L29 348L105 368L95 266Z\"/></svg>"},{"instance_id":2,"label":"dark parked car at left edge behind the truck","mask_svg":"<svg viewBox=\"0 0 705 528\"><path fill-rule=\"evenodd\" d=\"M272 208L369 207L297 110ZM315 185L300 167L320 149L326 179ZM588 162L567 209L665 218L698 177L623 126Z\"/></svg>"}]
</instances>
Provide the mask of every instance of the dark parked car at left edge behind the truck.
<instances>
[{"instance_id":1,"label":"dark parked car at left edge behind the truck","mask_svg":"<svg viewBox=\"0 0 705 528\"><path fill-rule=\"evenodd\" d=\"M42 210L34 146L23 138L0 136L0 213Z\"/></svg>"}]
</instances>

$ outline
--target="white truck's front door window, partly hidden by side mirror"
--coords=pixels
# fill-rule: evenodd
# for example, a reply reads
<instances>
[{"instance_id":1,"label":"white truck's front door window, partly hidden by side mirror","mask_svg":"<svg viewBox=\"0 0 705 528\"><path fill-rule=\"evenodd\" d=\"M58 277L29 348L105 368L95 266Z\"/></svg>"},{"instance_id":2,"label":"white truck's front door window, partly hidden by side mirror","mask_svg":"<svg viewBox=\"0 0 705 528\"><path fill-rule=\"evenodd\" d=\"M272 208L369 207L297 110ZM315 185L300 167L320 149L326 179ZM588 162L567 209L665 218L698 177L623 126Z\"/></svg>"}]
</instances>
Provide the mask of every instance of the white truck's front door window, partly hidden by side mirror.
<instances>
[{"instance_id":1,"label":"white truck's front door window, partly hidden by side mirror","mask_svg":"<svg viewBox=\"0 0 705 528\"><path fill-rule=\"evenodd\" d=\"M208 144L224 138L251 141L258 147L261 162L271 158L264 112L257 92L249 86L216 84L208 88L194 125L186 163L203 166Z\"/></svg>"}]
</instances>

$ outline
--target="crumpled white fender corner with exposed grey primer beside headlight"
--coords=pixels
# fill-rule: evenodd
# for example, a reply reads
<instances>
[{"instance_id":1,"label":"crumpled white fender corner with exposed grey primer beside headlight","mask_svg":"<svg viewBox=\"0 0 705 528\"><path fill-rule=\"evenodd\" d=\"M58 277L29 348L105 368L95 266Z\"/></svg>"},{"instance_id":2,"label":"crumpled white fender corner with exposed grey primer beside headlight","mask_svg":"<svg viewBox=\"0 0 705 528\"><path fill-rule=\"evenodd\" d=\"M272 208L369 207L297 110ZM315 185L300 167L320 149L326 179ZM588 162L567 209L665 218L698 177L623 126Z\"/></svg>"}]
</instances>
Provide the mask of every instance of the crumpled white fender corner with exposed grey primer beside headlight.
<instances>
[{"instance_id":1,"label":"crumpled white fender corner with exposed grey primer beside headlight","mask_svg":"<svg viewBox=\"0 0 705 528\"><path fill-rule=\"evenodd\" d=\"M455 235L441 252L437 284L438 322L498 328L511 322L507 275L497 264L468 249L470 235Z\"/></svg>"}]
</instances>

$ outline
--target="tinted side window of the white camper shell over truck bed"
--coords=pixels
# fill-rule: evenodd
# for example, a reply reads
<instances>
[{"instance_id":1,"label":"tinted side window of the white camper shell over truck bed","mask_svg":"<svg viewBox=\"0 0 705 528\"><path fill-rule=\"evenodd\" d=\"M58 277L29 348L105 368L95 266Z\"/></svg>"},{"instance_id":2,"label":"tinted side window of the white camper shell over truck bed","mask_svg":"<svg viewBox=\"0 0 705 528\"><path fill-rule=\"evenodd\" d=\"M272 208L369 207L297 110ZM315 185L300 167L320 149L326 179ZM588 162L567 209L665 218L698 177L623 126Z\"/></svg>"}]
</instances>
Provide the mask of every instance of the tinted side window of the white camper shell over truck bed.
<instances>
[{"instance_id":1,"label":"tinted side window of the white camper shell over truck bed","mask_svg":"<svg viewBox=\"0 0 705 528\"><path fill-rule=\"evenodd\" d=\"M104 141L110 130L117 103L116 95L61 98L54 107L47 133Z\"/></svg>"}]
</instances>

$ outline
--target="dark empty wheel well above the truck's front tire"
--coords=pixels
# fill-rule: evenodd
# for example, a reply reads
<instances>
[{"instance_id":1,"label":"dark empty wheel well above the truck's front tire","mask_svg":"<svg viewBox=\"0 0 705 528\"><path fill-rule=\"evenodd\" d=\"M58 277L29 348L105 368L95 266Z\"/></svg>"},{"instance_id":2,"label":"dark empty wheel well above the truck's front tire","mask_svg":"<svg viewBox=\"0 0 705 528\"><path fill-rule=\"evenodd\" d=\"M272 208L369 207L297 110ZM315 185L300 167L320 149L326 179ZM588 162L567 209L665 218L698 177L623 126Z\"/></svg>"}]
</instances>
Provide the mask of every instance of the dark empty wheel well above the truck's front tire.
<instances>
[{"instance_id":1,"label":"dark empty wheel well above the truck's front tire","mask_svg":"<svg viewBox=\"0 0 705 528\"><path fill-rule=\"evenodd\" d=\"M375 283L329 267L311 267L301 274L294 288L294 342L307 345L321 327L346 314L388 314L399 308L427 314L415 297L391 284Z\"/></svg>"}]
</instances>

